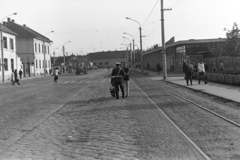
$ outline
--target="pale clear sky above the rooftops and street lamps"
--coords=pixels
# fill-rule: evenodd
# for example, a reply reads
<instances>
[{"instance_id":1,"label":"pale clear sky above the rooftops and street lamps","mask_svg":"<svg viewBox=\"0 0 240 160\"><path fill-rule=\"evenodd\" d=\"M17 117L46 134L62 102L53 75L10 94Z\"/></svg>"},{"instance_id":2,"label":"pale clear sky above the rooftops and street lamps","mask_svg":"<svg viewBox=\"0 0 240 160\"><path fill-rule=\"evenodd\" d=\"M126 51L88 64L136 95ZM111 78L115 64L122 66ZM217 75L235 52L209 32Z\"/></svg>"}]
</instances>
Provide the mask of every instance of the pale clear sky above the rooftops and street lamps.
<instances>
[{"instance_id":1,"label":"pale clear sky above the rooftops and street lamps","mask_svg":"<svg viewBox=\"0 0 240 160\"><path fill-rule=\"evenodd\" d=\"M135 49L140 48L140 25L142 46L147 49L162 44L160 3L161 0L1 0L0 19L16 12L10 18L51 39L51 52L58 56L62 55L63 45L68 54L75 55L125 50L132 36ZM225 38L224 28L231 30L234 22L240 25L240 0L163 3L165 9L172 9L164 12L165 41L173 36L175 41Z\"/></svg>"}]
</instances>

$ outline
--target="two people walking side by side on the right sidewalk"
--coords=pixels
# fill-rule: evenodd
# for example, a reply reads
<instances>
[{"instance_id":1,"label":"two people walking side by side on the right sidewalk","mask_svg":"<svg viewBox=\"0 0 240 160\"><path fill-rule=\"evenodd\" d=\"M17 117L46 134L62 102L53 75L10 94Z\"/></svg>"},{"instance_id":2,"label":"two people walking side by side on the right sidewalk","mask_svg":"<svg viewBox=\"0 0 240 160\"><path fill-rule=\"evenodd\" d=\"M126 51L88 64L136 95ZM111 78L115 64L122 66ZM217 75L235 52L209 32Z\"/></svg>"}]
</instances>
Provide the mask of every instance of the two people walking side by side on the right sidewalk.
<instances>
[{"instance_id":1,"label":"two people walking side by side on the right sidewalk","mask_svg":"<svg viewBox=\"0 0 240 160\"><path fill-rule=\"evenodd\" d=\"M189 60L187 60L186 62L185 61L183 62L183 72L185 73L185 79L186 79L187 85L189 85L189 82L192 85L192 76L193 76L194 69L193 69L193 65L190 64ZM200 60L197 65L197 72L198 72L198 84L201 84L201 79L203 79L205 84L207 84L208 81L206 77L206 69L202 60Z\"/></svg>"}]
</instances>

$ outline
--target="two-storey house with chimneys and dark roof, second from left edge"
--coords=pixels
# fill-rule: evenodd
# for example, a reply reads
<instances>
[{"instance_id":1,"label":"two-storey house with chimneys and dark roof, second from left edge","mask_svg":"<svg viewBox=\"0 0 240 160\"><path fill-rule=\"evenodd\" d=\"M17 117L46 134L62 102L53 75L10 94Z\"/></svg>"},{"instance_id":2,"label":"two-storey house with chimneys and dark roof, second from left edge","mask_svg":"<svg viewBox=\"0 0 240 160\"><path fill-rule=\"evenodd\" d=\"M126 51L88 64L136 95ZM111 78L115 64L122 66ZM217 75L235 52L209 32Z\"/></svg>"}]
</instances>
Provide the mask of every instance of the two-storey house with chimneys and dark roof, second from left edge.
<instances>
[{"instance_id":1,"label":"two-storey house with chimneys and dark roof, second from left edge","mask_svg":"<svg viewBox=\"0 0 240 160\"><path fill-rule=\"evenodd\" d=\"M10 20L6 26L18 34L16 40L17 55L23 63L23 76L39 76L51 68L50 47L52 41L26 25Z\"/></svg>"}]
</instances>

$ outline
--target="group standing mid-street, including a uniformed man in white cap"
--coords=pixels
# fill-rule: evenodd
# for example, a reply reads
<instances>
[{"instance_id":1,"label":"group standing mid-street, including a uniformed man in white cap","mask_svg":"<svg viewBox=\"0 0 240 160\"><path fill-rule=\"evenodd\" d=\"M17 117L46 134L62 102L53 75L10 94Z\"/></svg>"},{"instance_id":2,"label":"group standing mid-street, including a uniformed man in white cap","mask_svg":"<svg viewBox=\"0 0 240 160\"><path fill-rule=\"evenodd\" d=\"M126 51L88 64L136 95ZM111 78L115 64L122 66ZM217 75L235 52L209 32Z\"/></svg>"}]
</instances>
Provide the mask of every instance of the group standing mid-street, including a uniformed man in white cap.
<instances>
[{"instance_id":1,"label":"group standing mid-street, including a uniformed man in white cap","mask_svg":"<svg viewBox=\"0 0 240 160\"><path fill-rule=\"evenodd\" d=\"M122 98L129 96L129 67L126 63L116 62L116 67L111 73L111 84L114 87L114 97L119 99L119 87L122 92Z\"/></svg>"}]
</instances>

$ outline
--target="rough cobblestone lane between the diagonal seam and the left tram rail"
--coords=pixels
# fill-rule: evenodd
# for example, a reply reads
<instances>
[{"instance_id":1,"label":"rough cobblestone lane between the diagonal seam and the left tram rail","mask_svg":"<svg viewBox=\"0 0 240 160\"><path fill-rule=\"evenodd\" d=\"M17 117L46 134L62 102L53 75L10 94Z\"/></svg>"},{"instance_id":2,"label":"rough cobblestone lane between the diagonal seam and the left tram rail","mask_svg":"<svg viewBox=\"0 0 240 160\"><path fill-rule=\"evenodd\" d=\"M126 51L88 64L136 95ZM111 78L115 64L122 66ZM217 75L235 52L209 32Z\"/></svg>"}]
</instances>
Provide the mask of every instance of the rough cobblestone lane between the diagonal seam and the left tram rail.
<instances>
[{"instance_id":1,"label":"rough cobblestone lane between the diagonal seam and the left tram rail","mask_svg":"<svg viewBox=\"0 0 240 160\"><path fill-rule=\"evenodd\" d=\"M91 85L0 153L0 160L202 159L131 84L115 100L109 83Z\"/></svg>"}]
</instances>

